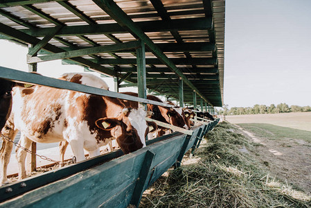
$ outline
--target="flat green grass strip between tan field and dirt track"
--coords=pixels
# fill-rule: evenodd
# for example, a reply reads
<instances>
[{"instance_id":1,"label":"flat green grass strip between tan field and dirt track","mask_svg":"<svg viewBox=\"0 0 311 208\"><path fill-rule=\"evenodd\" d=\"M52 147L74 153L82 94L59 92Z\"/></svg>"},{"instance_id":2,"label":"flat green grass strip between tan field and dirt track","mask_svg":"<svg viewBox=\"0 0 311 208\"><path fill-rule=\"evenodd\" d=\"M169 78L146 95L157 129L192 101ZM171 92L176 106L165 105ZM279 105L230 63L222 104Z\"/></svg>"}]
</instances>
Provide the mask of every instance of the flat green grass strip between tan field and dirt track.
<instances>
[{"instance_id":1,"label":"flat green grass strip between tan field and dirt track","mask_svg":"<svg viewBox=\"0 0 311 208\"><path fill-rule=\"evenodd\" d=\"M269 123L237 123L247 131L253 132L258 137L269 139L303 139L311 143L311 132L306 130L298 130L294 128L286 128Z\"/></svg>"}]
</instances>

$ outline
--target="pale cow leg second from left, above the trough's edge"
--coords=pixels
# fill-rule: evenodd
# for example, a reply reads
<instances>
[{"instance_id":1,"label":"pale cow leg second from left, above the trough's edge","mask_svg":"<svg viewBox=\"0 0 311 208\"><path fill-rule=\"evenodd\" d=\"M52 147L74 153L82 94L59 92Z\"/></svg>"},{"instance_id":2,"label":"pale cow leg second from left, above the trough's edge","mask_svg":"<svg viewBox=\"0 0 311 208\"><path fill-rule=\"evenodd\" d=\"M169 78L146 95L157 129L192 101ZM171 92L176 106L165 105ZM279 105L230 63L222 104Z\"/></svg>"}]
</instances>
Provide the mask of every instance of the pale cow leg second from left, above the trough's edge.
<instances>
[{"instance_id":1,"label":"pale cow leg second from left, above the trough's edge","mask_svg":"<svg viewBox=\"0 0 311 208\"><path fill-rule=\"evenodd\" d=\"M21 133L21 139L19 139L19 145L29 149L32 141L28 139L23 133ZM16 147L16 159L18 163L18 168L19 168L19 180L24 179L27 177L26 175L26 168L25 168L25 159L27 152L19 147Z\"/></svg>"}]
</instances>

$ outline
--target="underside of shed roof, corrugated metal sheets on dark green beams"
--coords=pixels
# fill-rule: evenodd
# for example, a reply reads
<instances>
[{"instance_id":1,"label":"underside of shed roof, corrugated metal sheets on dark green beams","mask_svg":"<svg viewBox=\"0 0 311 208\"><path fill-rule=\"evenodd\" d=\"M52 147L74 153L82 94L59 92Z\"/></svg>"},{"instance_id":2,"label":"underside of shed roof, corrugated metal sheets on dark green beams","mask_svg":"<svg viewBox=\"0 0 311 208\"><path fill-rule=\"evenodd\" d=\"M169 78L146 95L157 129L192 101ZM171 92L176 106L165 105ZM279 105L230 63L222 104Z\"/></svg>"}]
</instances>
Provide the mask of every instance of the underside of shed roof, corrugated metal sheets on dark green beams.
<instances>
[{"instance_id":1,"label":"underside of shed roof, corrugated metal sheets on dark green beams","mask_svg":"<svg viewBox=\"0 0 311 208\"><path fill-rule=\"evenodd\" d=\"M224 10L225 0L6 0L0 39L31 44L28 63L37 54L63 59L118 77L120 87L136 86L134 41L141 40L148 89L178 100L183 80L184 103L195 91L222 106Z\"/></svg>"}]
</instances>

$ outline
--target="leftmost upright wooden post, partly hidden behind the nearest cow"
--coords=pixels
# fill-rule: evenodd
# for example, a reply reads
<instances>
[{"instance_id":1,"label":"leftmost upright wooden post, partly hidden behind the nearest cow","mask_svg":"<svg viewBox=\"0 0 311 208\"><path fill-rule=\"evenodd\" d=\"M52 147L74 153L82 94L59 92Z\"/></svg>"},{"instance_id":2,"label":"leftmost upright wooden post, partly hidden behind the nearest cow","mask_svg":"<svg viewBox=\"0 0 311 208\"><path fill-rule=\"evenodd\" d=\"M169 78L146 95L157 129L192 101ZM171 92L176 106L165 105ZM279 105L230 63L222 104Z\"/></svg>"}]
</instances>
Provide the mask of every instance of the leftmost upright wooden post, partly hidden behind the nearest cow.
<instances>
[{"instance_id":1,"label":"leftmost upright wooden post, partly hidden behind the nearest cow","mask_svg":"<svg viewBox=\"0 0 311 208\"><path fill-rule=\"evenodd\" d=\"M29 44L28 45L28 51L33 51L33 45L32 44ZM37 52L33 53L33 55L37 55ZM37 71L37 63L33 63L33 64L28 64L28 71L29 72L35 72ZM33 152L33 153L37 153L37 144L35 143L35 141L33 141L31 143L31 146L30 146L30 150ZM30 155L30 153L27 153L27 162L26 162L26 171L28 173L31 173L33 171L36 170L37 168L37 159L36 159L36 155Z\"/></svg>"}]
</instances>

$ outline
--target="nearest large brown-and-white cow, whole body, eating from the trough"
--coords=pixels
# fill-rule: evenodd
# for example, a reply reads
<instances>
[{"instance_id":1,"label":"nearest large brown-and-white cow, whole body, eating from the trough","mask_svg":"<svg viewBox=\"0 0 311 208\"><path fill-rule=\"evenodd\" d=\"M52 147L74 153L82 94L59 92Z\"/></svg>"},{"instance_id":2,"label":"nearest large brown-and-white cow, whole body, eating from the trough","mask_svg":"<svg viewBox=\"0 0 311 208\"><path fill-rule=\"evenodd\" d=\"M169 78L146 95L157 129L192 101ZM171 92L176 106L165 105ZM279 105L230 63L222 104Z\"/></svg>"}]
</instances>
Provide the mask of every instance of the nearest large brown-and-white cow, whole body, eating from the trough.
<instances>
[{"instance_id":1,"label":"nearest large brown-and-white cow, whole body, eating from the trough","mask_svg":"<svg viewBox=\"0 0 311 208\"><path fill-rule=\"evenodd\" d=\"M60 79L73 83L107 88L103 80L82 73L66 73ZM22 87L12 90L12 113L2 130L5 137L14 139L21 131L19 144L29 148L31 141L52 143L68 141L77 162L99 155L99 147L116 139L123 153L145 147L148 125L146 112L126 107L118 98L96 96L66 89L44 86ZM6 169L12 144L3 139L1 148L1 184L8 182ZM26 152L16 149L19 180L26 177Z\"/></svg>"}]
</instances>

